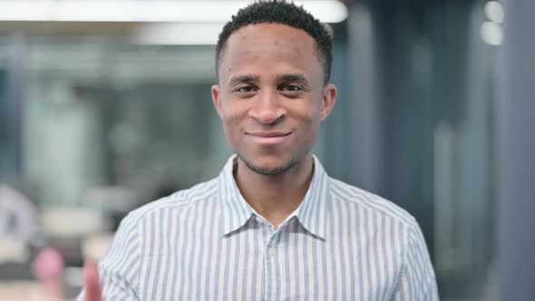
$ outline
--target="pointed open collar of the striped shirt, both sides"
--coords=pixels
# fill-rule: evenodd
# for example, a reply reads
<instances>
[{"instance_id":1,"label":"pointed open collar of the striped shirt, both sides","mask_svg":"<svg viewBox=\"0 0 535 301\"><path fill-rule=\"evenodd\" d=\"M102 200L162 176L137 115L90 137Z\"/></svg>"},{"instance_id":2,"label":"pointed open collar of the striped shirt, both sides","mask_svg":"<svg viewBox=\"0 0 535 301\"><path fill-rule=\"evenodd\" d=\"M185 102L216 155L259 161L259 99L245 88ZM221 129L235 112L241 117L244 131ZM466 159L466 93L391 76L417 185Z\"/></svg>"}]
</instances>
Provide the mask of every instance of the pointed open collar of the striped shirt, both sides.
<instances>
[{"instance_id":1,"label":"pointed open collar of the striped shirt, both sides","mask_svg":"<svg viewBox=\"0 0 535 301\"><path fill-rule=\"evenodd\" d=\"M303 202L296 210L296 216L301 225L308 232L318 238L325 239L326 218L330 211L330 193L328 191L328 176L320 161L314 158L314 174L310 187L306 191ZM229 158L223 170L219 174L219 196L222 204L222 235L243 227L248 219L258 215L239 192L236 180L234 180L234 166L237 156Z\"/></svg>"}]
</instances>

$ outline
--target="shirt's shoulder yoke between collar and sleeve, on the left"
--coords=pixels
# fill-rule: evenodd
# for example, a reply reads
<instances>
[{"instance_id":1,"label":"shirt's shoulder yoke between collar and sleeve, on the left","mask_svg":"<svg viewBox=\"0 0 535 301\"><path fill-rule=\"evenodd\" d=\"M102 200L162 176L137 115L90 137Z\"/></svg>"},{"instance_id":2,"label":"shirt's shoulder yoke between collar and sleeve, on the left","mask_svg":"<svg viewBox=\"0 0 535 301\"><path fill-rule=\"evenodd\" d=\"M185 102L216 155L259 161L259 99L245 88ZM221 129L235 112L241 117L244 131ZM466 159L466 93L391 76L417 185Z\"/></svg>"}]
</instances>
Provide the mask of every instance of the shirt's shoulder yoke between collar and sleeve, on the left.
<instances>
[{"instance_id":1,"label":"shirt's shoulder yoke between collar and sleeve, on the left","mask_svg":"<svg viewBox=\"0 0 535 301\"><path fill-rule=\"evenodd\" d=\"M219 181L217 178L199 183L190 189L179 190L170 196L151 201L138 209L132 210L124 218L123 222L138 223L149 216L154 214L159 215L169 210L181 212L194 209L196 205L209 201L217 196L218 189Z\"/></svg>"}]
</instances>

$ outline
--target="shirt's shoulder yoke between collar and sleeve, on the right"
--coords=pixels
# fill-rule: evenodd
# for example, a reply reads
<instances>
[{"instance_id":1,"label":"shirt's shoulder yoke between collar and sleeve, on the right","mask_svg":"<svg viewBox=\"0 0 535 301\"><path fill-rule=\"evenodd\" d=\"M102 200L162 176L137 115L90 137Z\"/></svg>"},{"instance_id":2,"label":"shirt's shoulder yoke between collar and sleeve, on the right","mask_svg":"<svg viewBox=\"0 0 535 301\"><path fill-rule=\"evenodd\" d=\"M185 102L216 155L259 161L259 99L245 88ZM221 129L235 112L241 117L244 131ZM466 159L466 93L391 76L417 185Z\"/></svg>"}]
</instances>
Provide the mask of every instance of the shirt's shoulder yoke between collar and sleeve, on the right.
<instances>
[{"instance_id":1,"label":"shirt's shoulder yoke between collar and sleeve, on the right","mask_svg":"<svg viewBox=\"0 0 535 301\"><path fill-rule=\"evenodd\" d=\"M356 207L357 212L367 212L388 218L402 224L404 228L417 227L413 216L405 209L374 193L349 185L341 180L329 178L329 189L335 202L349 207Z\"/></svg>"}]
</instances>

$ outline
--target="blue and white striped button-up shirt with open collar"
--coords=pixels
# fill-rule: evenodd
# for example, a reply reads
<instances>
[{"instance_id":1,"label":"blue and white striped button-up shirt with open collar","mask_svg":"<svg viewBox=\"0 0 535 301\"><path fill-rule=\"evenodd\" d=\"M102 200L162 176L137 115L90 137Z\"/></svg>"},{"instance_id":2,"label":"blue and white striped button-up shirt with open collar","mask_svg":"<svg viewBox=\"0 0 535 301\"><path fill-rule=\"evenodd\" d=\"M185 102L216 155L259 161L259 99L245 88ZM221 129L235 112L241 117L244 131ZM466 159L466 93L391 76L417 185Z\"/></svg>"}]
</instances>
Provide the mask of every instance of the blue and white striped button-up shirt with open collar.
<instances>
[{"instance_id":1,"label":"blue and white striped button-up shirt with open collar","mask_svg":"<svg viewBox=\"0 0 535 301\"><path fill-rule=\"evenodd\" d=\"M438 300L404 209L329 178L315 157L305 199L274 230L240 195L235 159L123 219L99 265L105 300Z\"/></svg>"}]
</instances>

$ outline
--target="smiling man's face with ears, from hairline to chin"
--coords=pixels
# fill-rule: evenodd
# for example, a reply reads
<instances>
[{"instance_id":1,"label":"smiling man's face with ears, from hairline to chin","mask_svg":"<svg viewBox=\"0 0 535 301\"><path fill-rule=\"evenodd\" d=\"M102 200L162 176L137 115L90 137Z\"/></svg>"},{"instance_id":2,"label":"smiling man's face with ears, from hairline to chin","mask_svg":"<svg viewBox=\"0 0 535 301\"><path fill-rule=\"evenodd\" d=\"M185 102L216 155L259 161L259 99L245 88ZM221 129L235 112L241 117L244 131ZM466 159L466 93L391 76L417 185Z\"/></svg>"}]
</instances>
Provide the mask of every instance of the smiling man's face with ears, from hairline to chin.
<instances>
[{"instance_id":1,"label":"smiling man's face with ears, from hairline to chin","mask_svg":"<svg viewBox=\"0 0 535 301\"><path fill-rule=\"evenodd\" d=\"M336 88L324 85L316 42L283 24L250 24L229 36L212 99L238 158L278 174L311 154Z\"/></svg>"}]
</instances>

